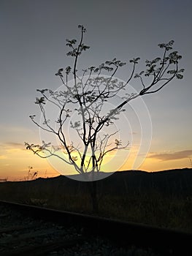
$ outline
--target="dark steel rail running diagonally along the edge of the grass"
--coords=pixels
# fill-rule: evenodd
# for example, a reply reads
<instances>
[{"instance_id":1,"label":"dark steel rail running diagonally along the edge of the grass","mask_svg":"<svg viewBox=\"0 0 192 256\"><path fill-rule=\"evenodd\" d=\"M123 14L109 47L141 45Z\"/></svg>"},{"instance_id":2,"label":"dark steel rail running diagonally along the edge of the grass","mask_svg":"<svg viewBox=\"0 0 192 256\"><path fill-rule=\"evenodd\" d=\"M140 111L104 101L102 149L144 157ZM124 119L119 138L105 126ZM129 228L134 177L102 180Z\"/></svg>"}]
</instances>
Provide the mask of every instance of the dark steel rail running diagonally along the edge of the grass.
<instances>
[{"instance_id":1,"label":"dark steel rail running diagonally along the edge of the grass","mask_svg":"<svg viewBox=\"0 0 192 256\"><path fill-rule=\"evenodd\" d=\"M101 236L120 246L152 248L163 255L192 255L192 233L4 200L0 205L12 206L37 219L80 227L85 236Z\"/></svg>"}]
</instances>

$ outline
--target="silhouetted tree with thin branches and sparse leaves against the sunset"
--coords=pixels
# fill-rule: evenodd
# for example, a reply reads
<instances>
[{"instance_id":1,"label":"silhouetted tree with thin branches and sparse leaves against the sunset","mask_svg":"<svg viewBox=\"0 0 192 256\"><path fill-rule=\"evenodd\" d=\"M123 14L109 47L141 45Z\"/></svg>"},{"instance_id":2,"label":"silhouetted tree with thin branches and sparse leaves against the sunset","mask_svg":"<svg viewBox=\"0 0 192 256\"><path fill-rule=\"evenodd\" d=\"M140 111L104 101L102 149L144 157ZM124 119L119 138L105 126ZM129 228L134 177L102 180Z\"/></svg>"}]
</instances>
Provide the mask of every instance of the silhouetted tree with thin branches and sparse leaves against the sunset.
<instances>
[{"instance_id":1,"label":"silhouetted tree with thin branches and sparse leaves against the sunset","mask_svg":"<svg viewBox=\"0 0 192 256\"><path fill-rule=\"evenodd\" d=\"M96 182L99 170L104 161L104 157L111 151L126 148L122 145L120 138L117 138L118 131L101 135L104 127L111 127L122 111L123 106L128 102L145 94L154 94L164 88L174 78L182 79L184 69L179 69L178 62L182 58L177 51L172 51L174 41L161 43L158 46L163 50L162 56L145 61L145 70L136 72L139 58L129 61L131 69L126 82L115 78L118 69L126 65L117 59L105 61L99 67L88 67L83 69L81 75L77 70L77 62L80 55L90 47L83 42L86 29L79 25L80 41L77 39L66 39L66 45L70 51L66 54L74 59L73 67L58 69L55 74L60 78L64 90L52 91L50 89L37 89L40 97L36 98L42 113L42 123L38 122L35 115L30 116L31 121L40 129L55 135L59 140L59 145L52 145L44 140L42 144L25 143L26 148L33 151L39 157L58 157L83 176L85 181L93 181L91 197L93 210L98 210L96 203ZM106 76L107 72L107 76ZM126 93L128 83L138 78L141 89L138 93ZM71 82L70 82L71 81ZM110 110L104 112L107 102L118 96L125 90L121 101ZM47 117L46 104L53 105L58 109L58 116L55 125ZM72 120L72 115L77 113L76 120ZM65 126L76 131L79 141L69 140ZM61 154L62 152L62 154Z\"/></svg>"}]
</instances>

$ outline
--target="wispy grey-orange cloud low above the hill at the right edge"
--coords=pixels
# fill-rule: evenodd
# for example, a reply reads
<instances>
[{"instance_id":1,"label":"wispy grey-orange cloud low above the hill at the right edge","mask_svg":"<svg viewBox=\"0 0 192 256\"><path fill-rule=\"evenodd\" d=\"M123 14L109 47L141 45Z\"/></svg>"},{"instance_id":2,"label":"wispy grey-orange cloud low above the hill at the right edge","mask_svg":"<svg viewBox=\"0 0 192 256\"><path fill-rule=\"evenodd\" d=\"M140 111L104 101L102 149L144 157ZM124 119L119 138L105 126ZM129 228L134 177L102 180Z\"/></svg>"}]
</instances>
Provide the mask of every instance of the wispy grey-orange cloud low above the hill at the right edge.
<instances>
[{"instance_id":1,"label":"wispy grey-orange cloud low above the hill at the right edge","mask_svg":"<svg viewBox=\"0 0 192 256\"><path fill-rule=\"evenodd\" d=\"M150 154L150 156L148 156L147 158L154 158L162 161L170 161L183 158L190 158L191 156L192 150L183 150L174 153Z\"/></svg>"}]
</instances>

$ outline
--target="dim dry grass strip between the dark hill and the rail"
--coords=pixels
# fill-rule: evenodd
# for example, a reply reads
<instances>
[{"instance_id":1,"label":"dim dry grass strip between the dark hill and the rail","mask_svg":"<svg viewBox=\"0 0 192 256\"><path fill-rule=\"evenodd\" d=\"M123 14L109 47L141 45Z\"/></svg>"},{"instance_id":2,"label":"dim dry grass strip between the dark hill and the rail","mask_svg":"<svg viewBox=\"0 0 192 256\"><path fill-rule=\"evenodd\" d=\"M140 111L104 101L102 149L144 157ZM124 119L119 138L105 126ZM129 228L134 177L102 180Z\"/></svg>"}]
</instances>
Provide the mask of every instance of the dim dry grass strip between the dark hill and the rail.
<instances>
[{"instance_id":1,"label":"dim dry grass strip between the dark hill and the rail","mask_svg":"<svg viewBox=\"0 0 192 256\"><path fill-rule=\"evenodd\" d=\"M60 184L44 186L26 181L4 183L0 186L0 199L28 203L65 211L91 214L91 198L88 192L67 192ZM192 233L192 196L175 197L160 192L133 192L124 195L99 194L99 215L129 222L168 227Z\"/></svg>"}]
</instances>

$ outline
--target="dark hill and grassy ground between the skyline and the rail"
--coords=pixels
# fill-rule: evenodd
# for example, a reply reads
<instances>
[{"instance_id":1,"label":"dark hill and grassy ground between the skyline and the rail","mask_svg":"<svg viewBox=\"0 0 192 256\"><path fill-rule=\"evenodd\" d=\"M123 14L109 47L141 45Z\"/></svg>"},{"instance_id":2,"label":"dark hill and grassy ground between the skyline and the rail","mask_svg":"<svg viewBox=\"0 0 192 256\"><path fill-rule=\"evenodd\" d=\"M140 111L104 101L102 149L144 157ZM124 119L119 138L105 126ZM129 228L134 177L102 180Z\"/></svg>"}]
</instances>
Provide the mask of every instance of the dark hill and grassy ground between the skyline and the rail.
<instances>
[{"instance_id":1,"label":"dark hill and grassy ground between the skyline and the rail","mask_svg":"<svg viewBox=\"0 0 192 256\"><path fill-rule=\"evenodd\" d=\"M0 200L91 214L88 182L65 176L0 184ZM192 169L124 171L96 181L99 215L192 233Z\"/></svg>"}]
</instances>

